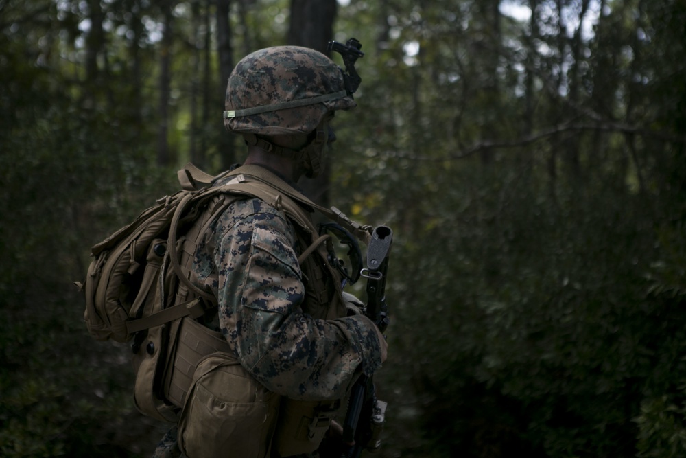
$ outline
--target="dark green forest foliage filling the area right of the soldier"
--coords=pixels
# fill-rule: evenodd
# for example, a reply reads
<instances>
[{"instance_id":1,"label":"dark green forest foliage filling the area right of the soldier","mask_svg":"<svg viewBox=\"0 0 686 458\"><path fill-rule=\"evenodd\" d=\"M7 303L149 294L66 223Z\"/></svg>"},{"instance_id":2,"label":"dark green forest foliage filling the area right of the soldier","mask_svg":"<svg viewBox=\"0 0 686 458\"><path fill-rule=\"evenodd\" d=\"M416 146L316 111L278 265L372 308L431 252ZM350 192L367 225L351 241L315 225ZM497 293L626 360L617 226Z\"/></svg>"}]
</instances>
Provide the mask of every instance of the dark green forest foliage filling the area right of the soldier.
<instances>
[{"instance_id":1,"label":"dark green forest foliage filling the area right of the soldier","mask_svg":"<svg viewBox=\"0 0 686 458\"><path fill-rule=\"evenodd\" d=\"M537 30L484 2L366 12L387 41L336 119L334 201L396 230L388 456L686 451L683 5L606 2L574 70L566 3L537 3Z\"/></svg>"}]
</instances>

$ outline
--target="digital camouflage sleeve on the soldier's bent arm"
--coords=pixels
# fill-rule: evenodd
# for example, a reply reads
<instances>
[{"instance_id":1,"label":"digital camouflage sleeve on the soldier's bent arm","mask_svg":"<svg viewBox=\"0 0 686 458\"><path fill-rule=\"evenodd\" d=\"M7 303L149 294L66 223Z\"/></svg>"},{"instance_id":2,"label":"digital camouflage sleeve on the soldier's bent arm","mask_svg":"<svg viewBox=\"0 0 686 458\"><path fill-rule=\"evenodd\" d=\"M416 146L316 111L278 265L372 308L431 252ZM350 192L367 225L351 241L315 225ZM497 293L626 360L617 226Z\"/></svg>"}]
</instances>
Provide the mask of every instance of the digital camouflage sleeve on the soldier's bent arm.
<instances>
[{"instance_id":1,"label":"digital camouflage sleeve on the soldier's bent arm","mask_svg":"<svg viewBox=\"0 0 686 458\"><path fill-rule=\"evenodd\" d=\"M241 205L230 227L217 228L222 331L242 365L271 391L300 400L342 398L359 371L370 375L381 366L374 323L304 314L292 226L258 200Z\"/></svg>"}]
</instances>

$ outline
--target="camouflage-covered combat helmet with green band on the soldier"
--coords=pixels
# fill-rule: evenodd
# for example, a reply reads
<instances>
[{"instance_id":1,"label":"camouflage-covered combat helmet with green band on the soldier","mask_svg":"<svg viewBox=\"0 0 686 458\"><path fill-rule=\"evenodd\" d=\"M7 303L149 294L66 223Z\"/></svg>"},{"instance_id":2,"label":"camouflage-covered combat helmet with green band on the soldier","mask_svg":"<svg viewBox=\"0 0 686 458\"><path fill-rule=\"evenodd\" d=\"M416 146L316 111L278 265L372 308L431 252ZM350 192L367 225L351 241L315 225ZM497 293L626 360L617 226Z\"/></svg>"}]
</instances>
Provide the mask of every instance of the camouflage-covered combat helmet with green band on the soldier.
<instances>
[{"instance_id":1,"label":"camouflage-covered combat helmet with green band on the soldier","mask_svg":"<svg viewBox=\"0 0 686 458\"><path fill-rule=\"evenodd\" d=\"M355 107L338 65L299 46L260 49L241 59L228 78L224 126L235 133L310 133L322 117Z\"/></svg>"}]
</instances>

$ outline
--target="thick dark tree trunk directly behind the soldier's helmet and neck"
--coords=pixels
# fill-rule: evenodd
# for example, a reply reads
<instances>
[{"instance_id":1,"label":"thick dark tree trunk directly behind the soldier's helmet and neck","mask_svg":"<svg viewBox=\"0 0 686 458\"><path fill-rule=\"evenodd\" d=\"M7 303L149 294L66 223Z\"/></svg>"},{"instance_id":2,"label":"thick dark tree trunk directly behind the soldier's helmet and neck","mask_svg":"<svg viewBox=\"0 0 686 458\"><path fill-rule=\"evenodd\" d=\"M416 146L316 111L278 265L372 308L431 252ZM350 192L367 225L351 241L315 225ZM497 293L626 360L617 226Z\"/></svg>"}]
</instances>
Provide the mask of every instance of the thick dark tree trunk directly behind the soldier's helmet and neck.
<instances>
[{"instance_id":1,"label":"thick dark tree trunk directly behind the soldier's helmet and neck","mask_svg":"<svg viewBox=\"0 0 686 458\"><path fill-rule=\"evenodd\" d=\"M327 54L327 43L333 38L336 0L292 0L288 44L309 47ZM315 179L300 181L303 192L315 203L329 207L331 158L324 157L324 170Z\"/></svg>"}]
</instances>

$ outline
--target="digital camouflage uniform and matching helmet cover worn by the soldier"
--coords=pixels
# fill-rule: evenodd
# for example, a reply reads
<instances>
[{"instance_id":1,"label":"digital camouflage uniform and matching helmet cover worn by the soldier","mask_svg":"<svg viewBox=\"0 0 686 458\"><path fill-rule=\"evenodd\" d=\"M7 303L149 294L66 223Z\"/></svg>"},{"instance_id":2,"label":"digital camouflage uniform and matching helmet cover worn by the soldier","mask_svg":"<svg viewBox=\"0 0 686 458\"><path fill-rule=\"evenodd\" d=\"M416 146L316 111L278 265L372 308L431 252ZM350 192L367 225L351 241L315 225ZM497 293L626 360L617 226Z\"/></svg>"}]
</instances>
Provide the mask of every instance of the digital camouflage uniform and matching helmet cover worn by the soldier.
<instances>
[{"instance_id":1,"label":"digital camouflage uniform and matching helmet cover worn by the soldier","mask_svg":"<svg viewBox=\"0 0 686 458\"><path fill-rule=\"evenodd\" d=\"M306 57L314 60L308 67L302 56L302 48L278 47L241 60L228 83L226 105L236 111L225 112L227 128L248 135L309 133L326 113L355 106L331 60L307 50ZM284 94L286 103L325 100L241 113L250 106L260 111ZM316 154L306 152L303 161L310 161L308 156ZM317 168L311 163L309 170L316 174ZM318 316L308 307L308 298L319 292L311 291L298 263L307 248L298 237L300 230L283 211L259 198L236 201L198 244L193 278L217 297L216 321L206 325L221 330L241 365L264 387L296 400L342 399L355 376L371 376L381 366L381 344L375 324L366 317L339 313L331 319L331 314ZM336 291L326 294L332 299ZM173 428L154 458L180 456Z\"/></svg>"}]
</instances>

